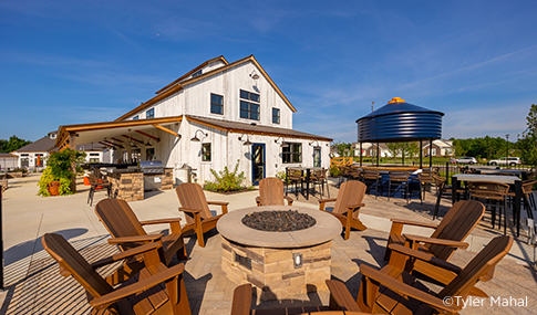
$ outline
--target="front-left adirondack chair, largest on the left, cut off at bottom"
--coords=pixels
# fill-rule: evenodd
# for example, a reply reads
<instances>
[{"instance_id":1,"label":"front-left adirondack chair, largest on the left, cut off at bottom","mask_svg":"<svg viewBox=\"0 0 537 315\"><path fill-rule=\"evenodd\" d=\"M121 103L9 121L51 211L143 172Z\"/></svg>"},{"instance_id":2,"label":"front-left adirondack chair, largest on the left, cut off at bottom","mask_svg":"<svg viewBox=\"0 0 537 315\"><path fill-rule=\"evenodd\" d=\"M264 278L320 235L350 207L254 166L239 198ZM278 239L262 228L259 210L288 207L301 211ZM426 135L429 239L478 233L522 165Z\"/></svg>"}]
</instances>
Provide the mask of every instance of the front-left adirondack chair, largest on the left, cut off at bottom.
<instances>
[{"instance_id":1,"label":"front-left adirondack chair, largest on the left, cut off at bottom","mask_svg":"<svg viewBox=\"0 0 537 315\"><path fill-rule=\"evenodd\" d=\"M182 275L185 266L166 267L157 251L159 243L141 245L90 264L60 234L47 233L41 242L60 264L62 275L72 275L85 288L92 314L192 314ZM115 288L95 271L140 254L144 255L146 267Z\"/></svg>"}]
</instances>

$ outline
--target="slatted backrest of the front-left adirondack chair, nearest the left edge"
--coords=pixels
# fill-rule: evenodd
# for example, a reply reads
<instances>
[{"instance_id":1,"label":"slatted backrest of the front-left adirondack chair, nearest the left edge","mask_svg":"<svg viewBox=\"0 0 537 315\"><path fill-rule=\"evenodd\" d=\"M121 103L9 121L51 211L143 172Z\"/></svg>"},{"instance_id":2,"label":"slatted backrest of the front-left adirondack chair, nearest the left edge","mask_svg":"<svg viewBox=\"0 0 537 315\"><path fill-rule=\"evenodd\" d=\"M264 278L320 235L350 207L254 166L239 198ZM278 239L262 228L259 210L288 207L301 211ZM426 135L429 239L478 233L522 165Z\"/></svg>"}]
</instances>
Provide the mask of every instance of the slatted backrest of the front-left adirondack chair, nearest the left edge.
<instances>
[{"instance_id":1,"label":"slatted backrest of the front-left adirondack chair, nearest the left edge","mask_svg":"<svg viewBox=\"0 0 537 315\"><path fill-rule=\"evenodd\" d=\"M84 258L60 234L41 237L44 250L90 293L93 297L113 291L112 286L84 260ZM90 300L91 297L87 296Z\"/></svg>"}]
</instances>

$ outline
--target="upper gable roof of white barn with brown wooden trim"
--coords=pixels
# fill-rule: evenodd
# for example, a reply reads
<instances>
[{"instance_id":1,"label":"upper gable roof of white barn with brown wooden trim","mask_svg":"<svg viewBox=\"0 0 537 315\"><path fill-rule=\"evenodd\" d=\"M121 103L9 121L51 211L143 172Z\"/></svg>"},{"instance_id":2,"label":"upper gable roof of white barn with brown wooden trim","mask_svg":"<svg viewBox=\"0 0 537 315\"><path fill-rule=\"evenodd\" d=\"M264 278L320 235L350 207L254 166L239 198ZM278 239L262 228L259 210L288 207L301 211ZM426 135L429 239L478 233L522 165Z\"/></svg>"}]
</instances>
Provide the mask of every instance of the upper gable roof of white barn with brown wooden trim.
<instances>
[{"instance_id":1,"label":"upper gable roof of white barn with brown wooden trim","mask_svg":"<svg viewBox=\"0 0 537 315\"><path fill-rule=\"evenodd\" d=\"M214 69L214 70L211 70L211 71L209 71L207 73L203 73L203 74L197 75L195 77L190 77L188 80L182 81L185 77L188 77L188 75L190 75L192 73L194 73L194 72L198 71L199 69L206 66L210 62L214 62L214 61L217 61L217 60L221 60L226 65L220 66L220 67L217 67L217 69ZM195 82L197 82L199 80L204 80L204 78L210 77L210 76L213 76L215 74L221 73L221 72L224 72L226 70L229 70L229 69L231 69L234 66L237 66L237 65L240 65L240 64L244 64L244 63L247 63L247 62L251 62L251 63L254 63L258 67L259 72L265 76L265 78L276 90L276 92L283 99L283 102L291 108L291 111L293 113L297 113L297 108L295 108L295 106L292 106L291 102L289 102L289 99L287 99L286 95L283 95L283 93L281 92L281 90L278 87L278 85L276 85L276 83L272 81L272 78L270 78L270 76L262 69L262 66L259 64L259 62L257 62L257 60L256 60L256 57L254 55L249 55L247 57L240 59L240 60L235 61L233 63L228 63L226 61L226 59L224 59L224 56L219 56L219 57L211 59L211 60L208 60L208 61L202 63L197 67L195 67L192 71L187 72L185 75L180 76L179 78L177 78L174 82L169 83L168 85L164 86L163 88L161 88L159 91L156 92L157 93L156 96L154 96L153 98L151 98L151 99L148 99L148 101L140 104L134 109L132 109L132 111L123 114L122 116L120 116L118 118L116 118L115 122L126 119L130 116L132 116L132 115L134 115L134 114L136 114L136 113L138 113L141 111L144 111L144 109L146 109L146 108L155 105L156 103L158 103L158 102L161 102L163 99L166 99L167 97L174 95L175 93L184 90L184 86L185 85L195 83Z\"/></svg>"}]
</instances>

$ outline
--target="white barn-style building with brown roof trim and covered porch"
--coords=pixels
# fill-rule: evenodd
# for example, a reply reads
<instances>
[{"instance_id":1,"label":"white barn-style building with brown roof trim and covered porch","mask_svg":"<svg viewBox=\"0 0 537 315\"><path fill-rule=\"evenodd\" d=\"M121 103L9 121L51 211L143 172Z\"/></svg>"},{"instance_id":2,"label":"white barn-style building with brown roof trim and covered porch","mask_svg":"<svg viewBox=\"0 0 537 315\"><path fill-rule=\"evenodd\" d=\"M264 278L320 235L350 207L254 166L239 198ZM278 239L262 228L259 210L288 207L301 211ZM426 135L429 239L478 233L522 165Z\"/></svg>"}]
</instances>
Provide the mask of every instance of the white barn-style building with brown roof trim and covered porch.
<instances>
[{"instance_id":1,"label":"white barn-style building with brown roof trim and covered porch","mask_svg":"<svg viewBox=\"0 0 537 315\"><path fill-rule=\"evenodd\" d=\"M297 109L254 55L208 60L155 94L114 122L60 126L56 145L106 143L114 162L161 160L199 182L237 160L249 185L286 167L330 167L332 139L292 128Z\"/></svg>"}]
</instances>

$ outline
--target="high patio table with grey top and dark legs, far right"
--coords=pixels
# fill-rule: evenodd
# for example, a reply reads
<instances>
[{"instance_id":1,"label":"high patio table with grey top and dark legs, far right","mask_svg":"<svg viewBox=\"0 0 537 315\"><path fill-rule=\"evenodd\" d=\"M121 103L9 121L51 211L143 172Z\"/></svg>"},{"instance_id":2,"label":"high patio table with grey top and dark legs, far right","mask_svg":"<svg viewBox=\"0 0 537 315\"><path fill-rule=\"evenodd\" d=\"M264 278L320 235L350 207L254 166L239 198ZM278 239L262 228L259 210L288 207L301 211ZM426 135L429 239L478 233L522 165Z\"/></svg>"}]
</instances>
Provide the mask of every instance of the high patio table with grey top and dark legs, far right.
<instances>
[{"instance_id":1,"label":"high patio table with grey top and dark legs, far right","mask_svg":"<svg viewBox=\"0 0 537 315\"><path fill-rule=\"evenodd\" d=\"M523 181L520 178L503 175L455 174L452 176L452 203L455 203L456 191L461 189L461 181L490 181L512 186L515 190L515 209L513 213L515 217L516 237L520 235L520 199L523 197Z\"/></svg>"}]
</instances>

